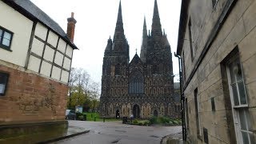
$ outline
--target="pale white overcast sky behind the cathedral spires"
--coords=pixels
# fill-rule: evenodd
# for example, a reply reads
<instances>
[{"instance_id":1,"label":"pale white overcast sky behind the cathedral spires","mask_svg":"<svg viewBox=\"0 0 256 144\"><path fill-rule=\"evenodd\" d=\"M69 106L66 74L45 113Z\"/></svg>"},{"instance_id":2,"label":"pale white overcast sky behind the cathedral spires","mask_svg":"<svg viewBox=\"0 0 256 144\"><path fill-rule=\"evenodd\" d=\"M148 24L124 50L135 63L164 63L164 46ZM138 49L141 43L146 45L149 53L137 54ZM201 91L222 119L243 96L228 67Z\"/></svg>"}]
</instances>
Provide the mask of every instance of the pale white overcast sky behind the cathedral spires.
<instances>
[{"instance_id":1,"label":"pale white overcast sky behind the cathedral spires","mask_svg":"<svg viewBox=\"0 0 256 144\"><path fill-rule=\"evenodd\" d=\"M66 31L66 18L74 12L77 20L73 67L85 69L95 82L101 82L102 60L107 39L113 38L118 17L119 0L31 0ZM174 74L178 74L178 59L174 57L178 41L181 0L158 0L158 10L173 54ZM142 44L143 18L149 30L152 24L154 0L122 0L122 21L130 45L130 60ZM174 81L178 80L178 76Z\"/></svg>"}]
</instances>

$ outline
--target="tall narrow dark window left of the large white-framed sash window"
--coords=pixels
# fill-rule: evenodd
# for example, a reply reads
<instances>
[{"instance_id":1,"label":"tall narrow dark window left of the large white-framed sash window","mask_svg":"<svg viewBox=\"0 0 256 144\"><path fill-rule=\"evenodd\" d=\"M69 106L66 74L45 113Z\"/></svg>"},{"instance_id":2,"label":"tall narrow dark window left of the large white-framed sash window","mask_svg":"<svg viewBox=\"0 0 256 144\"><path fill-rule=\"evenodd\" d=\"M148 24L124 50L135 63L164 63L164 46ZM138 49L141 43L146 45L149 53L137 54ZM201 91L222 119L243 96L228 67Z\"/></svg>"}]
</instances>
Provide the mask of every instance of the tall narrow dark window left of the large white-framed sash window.
<instances>
[{"instance_id":1,"label":"tall narrow dark window left of the large white-framed sash window","mask_svg":"<svg viewBox=\"0 0 256 144\"><path fill-rule=\"evenodd\" d=\"M199 102L198 102L198 88L194 90L194 105L195 105L195 114L196 114L196 121L197 121L197 133L198 133L198 138L201 138L201 124L200 124L200 115L199 115Z\"/></svg>"}]
</instances>

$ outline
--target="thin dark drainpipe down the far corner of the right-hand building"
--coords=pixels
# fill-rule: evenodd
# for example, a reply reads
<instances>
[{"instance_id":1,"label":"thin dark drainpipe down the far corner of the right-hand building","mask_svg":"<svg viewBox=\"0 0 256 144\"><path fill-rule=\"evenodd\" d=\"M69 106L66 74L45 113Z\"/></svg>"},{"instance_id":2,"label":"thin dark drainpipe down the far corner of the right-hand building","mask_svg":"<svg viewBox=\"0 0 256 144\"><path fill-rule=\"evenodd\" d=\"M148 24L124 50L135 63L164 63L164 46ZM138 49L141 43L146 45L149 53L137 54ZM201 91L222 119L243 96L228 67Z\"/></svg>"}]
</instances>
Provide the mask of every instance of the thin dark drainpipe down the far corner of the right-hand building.
<instances>
[{"instance_id":1,"label":"thin dark drainpipe down the far corner of the right-hand building","mask_svg":"<svg viewBox=\"0 0 256 144\"><path fill-rule=\"evenodd\" d=\"M184 113L184 94L182 91L182 66L181 66L181 57L174 52L174 56L178 58L178 71L179 71L179 89L181 95L181 113L182 113L182 139L186 141L186 126L185 126L185 113Z\"/></svg>"}]
</instances>

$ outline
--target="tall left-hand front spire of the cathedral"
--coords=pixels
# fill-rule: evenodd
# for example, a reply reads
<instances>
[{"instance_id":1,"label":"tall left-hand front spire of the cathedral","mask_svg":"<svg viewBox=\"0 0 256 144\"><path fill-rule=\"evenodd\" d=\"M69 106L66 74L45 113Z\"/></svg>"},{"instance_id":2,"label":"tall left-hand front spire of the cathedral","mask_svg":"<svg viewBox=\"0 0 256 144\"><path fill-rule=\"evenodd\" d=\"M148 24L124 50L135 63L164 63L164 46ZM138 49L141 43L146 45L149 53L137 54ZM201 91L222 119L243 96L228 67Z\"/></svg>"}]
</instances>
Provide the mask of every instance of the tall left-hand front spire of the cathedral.
<instances>
[{"instance_id":1,"label":"tall left-hand front spire of the cathedral","mask_svg":"<svg viewBox=\"0 0 256 144\"><path fill-rule=\"evenodd\" d=\"M123 30L123 24L122 24L122 6L121 6L121 0L119 2L119 8L118 8L118 20L115 26L114 30L114 38L113 40L123 40L125 39L125 34Z\"/></svg>"}]
</instances>

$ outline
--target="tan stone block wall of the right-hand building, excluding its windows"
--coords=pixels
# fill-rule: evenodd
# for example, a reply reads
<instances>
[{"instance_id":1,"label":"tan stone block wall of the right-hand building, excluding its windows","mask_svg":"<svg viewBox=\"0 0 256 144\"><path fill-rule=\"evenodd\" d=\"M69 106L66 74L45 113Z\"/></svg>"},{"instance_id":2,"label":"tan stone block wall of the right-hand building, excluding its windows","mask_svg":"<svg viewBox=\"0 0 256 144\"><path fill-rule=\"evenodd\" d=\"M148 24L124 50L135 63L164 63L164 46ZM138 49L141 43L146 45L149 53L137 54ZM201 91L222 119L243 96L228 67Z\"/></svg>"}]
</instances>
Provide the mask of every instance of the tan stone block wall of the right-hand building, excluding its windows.
<instances>
[{"instance_id":1,"label":"tan stone block wall of the right-hand building, excluding its windows","mask_svg":"<svg viewBox=\"0 0 256 144\"><path fill-rule=\"evenodd\" d=\"M213 9L211 1L190 1L189 15L194 30L194 50L195 57L191 60L190 44L184 41L183 50L185 52L186 81L191 75L190 82L186 85L184 94L187 98L188 141L191 143L205 143L203 128L208 132L209 143L236 143L234 134L234 120L230 107L229 90L225 88L226 79L223 78L225 67L222 61L238 47L239 57L242 63L246 94L252 130L256 130L256 2L243 0L234 2L234 7L230 7L224 22L220 23L218 34L209 45L210 48L205 55L203 50L207 46L207 41L214 33L214 26L218 24L218 18L225 10L226 3L230 1L219 1ZM201 8L203 8L203 10ZM185 38L189 39L188 28L186 27ZM193 74L194 67L198 69ZM199 119L201 136L197 134L197 124L195 118L194 90L198 88L199 98ZM215 110L212 110L211 98L214 98ZM254 132L255 137L255 132Z\"/></svg>"}]
</instances>

